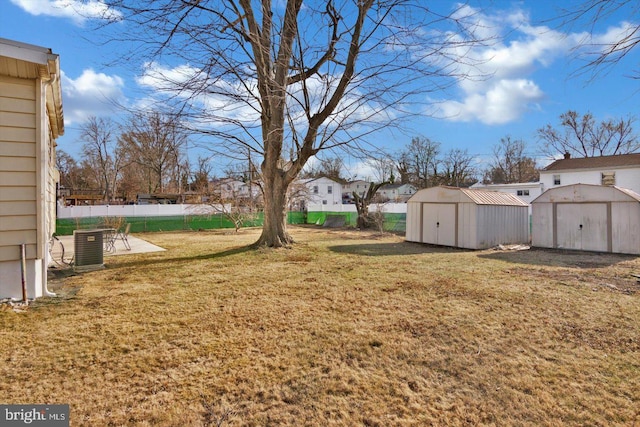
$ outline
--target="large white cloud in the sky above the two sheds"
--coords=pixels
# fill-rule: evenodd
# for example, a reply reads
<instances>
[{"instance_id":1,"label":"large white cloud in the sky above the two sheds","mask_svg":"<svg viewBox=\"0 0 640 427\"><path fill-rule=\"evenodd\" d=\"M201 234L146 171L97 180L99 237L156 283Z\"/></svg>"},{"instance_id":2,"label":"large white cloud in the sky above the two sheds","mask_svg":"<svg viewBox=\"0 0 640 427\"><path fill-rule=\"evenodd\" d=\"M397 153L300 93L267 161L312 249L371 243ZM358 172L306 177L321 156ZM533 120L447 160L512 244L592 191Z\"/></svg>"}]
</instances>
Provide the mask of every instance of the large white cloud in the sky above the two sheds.
<instances>
[{"instance_id":1,"label":"large white cloud in the sky above the two sheds","mask_svg":"<svg viewBox=\"0 0 640 427\"><path fill-rule=\"evenodd\" d=\"M545 94L532 74L569 54L585 37L532 25L519 9L487 16L467 6L462 12L476 36L496 37L496 42L454 52L468 59L459 71L478 77L457 83L460 99L438 101L433 115L450 121L504 124L537 108Z\"/></svg>"}]
</instances>

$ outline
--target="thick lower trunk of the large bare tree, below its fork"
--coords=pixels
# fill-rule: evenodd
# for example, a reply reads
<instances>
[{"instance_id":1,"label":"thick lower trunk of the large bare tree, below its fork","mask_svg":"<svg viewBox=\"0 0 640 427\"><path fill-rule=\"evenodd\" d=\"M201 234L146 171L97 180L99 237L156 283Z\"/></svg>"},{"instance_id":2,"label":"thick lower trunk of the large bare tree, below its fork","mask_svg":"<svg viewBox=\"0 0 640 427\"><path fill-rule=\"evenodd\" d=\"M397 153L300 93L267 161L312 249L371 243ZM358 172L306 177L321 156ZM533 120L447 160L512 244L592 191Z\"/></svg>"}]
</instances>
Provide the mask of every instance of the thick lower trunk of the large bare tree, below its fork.
<instances>
[{"instance_id":1,"label":"thick lower trunk of the large bare tree, below its fork","mask_svg":"<svg viewBox=\"0 0 640 427\"><path fill-rule=\"evenodd\" d=\"M255 247L280 248L293 243L293 238L287 232L288 183L278 172L264 182L264 224L262 235L254 243Z\"/></svg>"}]
</instances>

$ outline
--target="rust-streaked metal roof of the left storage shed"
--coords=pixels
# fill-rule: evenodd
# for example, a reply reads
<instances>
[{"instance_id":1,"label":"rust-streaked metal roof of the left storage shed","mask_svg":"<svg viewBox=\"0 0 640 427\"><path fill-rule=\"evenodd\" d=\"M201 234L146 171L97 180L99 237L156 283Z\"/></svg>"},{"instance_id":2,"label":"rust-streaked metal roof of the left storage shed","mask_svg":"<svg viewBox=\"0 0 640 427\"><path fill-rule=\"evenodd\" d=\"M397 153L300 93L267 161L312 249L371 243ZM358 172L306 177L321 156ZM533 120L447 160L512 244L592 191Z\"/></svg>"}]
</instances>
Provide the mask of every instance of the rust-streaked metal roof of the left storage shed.
<instances>
[{"instance_id":1,"label":"rust-streaked metal roof of the left storage shed","mask_svg":"<svg viewBox=\"0 0 640 427\"><path fill-rule=\"evenodd\" d=\"M458 187L431 187L419 190L409 202L475 203L476 205L529 206L511 193Z\"/></svg>"}]
</instances>

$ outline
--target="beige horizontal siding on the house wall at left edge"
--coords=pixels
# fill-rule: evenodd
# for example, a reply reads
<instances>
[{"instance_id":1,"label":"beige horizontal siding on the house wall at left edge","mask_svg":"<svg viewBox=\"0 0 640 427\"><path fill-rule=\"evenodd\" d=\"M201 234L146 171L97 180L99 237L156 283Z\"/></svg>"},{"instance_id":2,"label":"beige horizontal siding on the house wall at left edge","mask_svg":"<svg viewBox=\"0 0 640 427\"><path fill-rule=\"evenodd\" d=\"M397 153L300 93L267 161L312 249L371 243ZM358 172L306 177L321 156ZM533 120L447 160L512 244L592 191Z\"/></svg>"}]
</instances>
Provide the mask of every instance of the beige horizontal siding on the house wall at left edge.
<instances>
[{"instance_id":1,"label":"beige horizontal siding on the house wall at left edge","mask_svg":"<svg viewBox=\"0 0 640 427\"><path fill-rule=\"evenodd\" d=\"M0 261L34 257L36 238L35 81L0 77Z\"/></svg>"}]
</instances>

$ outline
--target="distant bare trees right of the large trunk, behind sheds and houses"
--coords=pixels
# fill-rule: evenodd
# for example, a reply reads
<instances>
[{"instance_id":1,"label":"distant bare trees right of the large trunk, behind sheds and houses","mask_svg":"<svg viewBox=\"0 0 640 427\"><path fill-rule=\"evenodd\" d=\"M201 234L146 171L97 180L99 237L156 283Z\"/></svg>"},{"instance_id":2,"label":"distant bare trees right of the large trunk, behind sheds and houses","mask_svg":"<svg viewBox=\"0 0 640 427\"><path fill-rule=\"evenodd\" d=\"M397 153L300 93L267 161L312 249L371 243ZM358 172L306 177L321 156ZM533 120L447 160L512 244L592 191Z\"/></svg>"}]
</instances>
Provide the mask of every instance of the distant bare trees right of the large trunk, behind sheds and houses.
<instances>
[{"instance_id":1,"label":"distant bare trees right of the large trunk, behind sheds and houses","mask_svg":"<svg viewBox=\"0 0 640 427\"><path fill-rule=\"evenodd\" d=\"M640 151L640 140L633 131L634 118L607 119L597 122L591 113L580 115L569 110L560 115L560 124L547 124L536 131L538 152L545 158L593 157L629 154ZM440 142L427 137L414 137L395 156L373 159L376 183L394 181L417 188L437 185L468 187L478 181L484 184L536 182L540 178L535 157L527 154L528 145L522 139L507 135L492 147L491 157L481 165L468 150L442 151ZM353 179L339 157L319 159L303 174L305 177L326 176L335 181Z\"/></svg>"}]
</instances>

